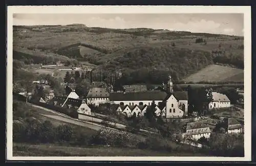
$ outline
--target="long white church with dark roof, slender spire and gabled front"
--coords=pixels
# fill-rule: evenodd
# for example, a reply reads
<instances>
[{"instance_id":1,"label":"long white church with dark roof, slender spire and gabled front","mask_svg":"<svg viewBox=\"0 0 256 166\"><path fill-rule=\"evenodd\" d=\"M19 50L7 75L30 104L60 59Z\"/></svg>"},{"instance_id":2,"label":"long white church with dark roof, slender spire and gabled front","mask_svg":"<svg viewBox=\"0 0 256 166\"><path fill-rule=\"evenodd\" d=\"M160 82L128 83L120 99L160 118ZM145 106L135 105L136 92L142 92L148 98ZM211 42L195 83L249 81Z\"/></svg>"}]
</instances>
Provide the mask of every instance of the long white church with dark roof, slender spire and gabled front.
<instances>
[{"instance_id":1,"label":"long white church with dark roof, slender spire and gabled front","mask_svg":"<svg viewBox=\"0 0 256 166\"><path fill-rule=\"evenodd\" d=\"M143 106L145 108L144 105L150 106L153 101L155 101L159 108L157 115L163 118L181 118L187 115L188 94L185 91L173 91L173 82L170 75L168 76L166 89L162 91L111 93L109 99L112 104L119 104L123 108L126 108L118 108L117 110L118 112L125 110L125 115L133 115L133 110L128 109L131 106ZM129 111L131 113L128 113ZM140 111L140 115L143 114L142 110Z\"/></svg>"}]
</instances>

